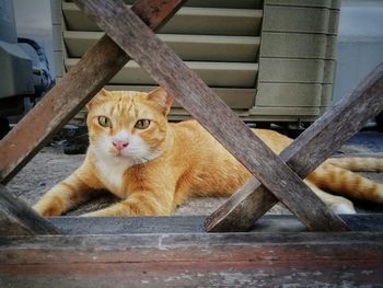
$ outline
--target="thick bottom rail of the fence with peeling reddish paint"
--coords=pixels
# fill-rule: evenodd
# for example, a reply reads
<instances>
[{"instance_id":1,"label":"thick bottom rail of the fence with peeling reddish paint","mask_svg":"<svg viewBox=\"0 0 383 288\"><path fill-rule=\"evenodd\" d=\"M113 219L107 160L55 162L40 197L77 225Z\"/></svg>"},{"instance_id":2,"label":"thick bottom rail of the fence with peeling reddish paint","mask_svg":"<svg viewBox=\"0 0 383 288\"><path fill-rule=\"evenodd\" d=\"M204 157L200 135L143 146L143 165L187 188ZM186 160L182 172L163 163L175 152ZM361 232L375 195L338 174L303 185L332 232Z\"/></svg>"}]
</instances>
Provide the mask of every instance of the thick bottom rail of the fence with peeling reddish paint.
<instances>
[{"instance_id":1,"label":"thick bottom rail of the fence with peeling reddish paint","mask_svg":"<svg viewBox=\"0 0 383 288\"><path fill-rule=\"evenodd\" d=\"M4 287L360 287L383 279L382 233L0 238ZM316 287L315 286L315 287Z\"/></svg>"}]
</instances>

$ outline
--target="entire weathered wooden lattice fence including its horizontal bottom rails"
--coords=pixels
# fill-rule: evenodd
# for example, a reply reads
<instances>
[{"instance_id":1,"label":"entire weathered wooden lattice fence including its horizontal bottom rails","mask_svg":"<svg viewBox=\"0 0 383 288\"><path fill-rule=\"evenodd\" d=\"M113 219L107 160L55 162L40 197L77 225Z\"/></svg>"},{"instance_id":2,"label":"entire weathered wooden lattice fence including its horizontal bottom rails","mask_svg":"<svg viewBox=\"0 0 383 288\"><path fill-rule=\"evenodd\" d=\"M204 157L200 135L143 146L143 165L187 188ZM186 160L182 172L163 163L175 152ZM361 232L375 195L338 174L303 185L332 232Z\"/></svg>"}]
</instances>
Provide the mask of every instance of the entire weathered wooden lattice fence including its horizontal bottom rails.
<instances>
[{"instance_id":1,"label":"entire weathered wooden lattice fence including its horizontal bottom rails","mask_svg":"<svg viewBox=\"0 0 383 288\"><path fill-rule=\"evenodd\" d=\"M355 285L382 283L383 234L376 231L383 230L382 217L338 217L301 177L357 133L369 117L383 110L383 65L351 97L326 113L278 157L150 31L149 27L163 24L183 1L138 0L132 10L121 1L77 2L108 36L103 36L0 141L0 181L5 184L131 57L259 180L249 181L208 218L205 229L253 228L263 232L207 234L202 232L201 218L192 219L192 230L175 229L174 233L163 229L164 222L167 229L173 227L174 218L51 218L47 221L0 187L0 232L9 234L0 237L1 283L11 286L27 283L33 287L55 279L55 284L62 287L73 280L72 276L80 284L91 283L94 287L112 283L126 287L123 281L126 279L131 285L149 280L154 286L225 281L306 286L312 280L341 285L344 277ZM214 117L218 114L220 120ZM290 217L292 230L289 232L263 230L265 221L269 227L281 221L272 217L263 218L254 226L254 220L277 200L289 207L301 222ZM185 218L176 219L185 229ZM360 224L362 220L369 220L370 226ZM65 221L69 221L69 230ZM94 235L97 234L94 229L98 227L98 231L103 231L100 226L109 221L119 223L114 227L118 228L118 234L106 229ZM76 226L79 222L82 226ZM139 229L130 231L139 223L146 228L152 223L155 229L143 229L143 234L139 234ZM355 231L345 232L350 229ZM365 232L371 229L376 230ZM329 233L297 233L307 230ZM71 235L70 231L77 232ZM79 231L93 235L78 235ZM130 234L121 234L128 232ZM53 235L57 233L63 234Z\"/></svg>"}]
</instances>

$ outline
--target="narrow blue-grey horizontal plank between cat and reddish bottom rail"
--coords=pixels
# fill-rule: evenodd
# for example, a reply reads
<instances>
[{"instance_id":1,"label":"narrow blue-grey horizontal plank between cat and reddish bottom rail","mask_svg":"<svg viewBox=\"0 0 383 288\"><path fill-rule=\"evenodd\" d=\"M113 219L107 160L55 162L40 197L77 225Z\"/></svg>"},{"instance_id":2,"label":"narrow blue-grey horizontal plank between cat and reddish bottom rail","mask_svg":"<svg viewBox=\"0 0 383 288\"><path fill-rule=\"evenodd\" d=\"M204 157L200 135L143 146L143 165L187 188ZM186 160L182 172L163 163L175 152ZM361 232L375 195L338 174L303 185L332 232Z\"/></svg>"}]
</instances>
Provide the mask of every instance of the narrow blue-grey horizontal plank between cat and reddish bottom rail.
<instances>
[{"instance_id":1,"label":"narrow blue-grey horizontal plank between cat and reddish bottom rail","mask_svg":"<svg viewBox=\"0 0 383 288\"><path fill-rule=\"evenodd\" d=\"M383 215L340 215L352 231L383 232ZM50 217L48 220L65 234L153 234L202 233L205 216L182 217ZM252 232L306 232L293 215L265 215Z\"/></svg>"}]
</instances>

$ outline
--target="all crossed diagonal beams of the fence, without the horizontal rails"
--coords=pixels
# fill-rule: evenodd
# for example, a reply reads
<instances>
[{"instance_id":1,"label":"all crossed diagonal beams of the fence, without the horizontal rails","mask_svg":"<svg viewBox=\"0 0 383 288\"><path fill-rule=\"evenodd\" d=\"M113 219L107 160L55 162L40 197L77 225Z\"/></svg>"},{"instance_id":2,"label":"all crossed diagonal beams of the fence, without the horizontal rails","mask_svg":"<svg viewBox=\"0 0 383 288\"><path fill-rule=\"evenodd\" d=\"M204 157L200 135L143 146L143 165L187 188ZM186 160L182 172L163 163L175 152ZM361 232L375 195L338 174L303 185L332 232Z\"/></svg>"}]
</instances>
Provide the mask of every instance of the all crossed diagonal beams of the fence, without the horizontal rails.
<instances>
[{"instance_id":1,"label":"all crossed diagonal beams of the fence, without the horizontal rails","mask_svg":"<svg viewBox=\"0 0 383 288\"><path fill-rule=\"evenodd\" d=\"M310 230L349 230L301 178L383 110L383 65L278 157L151 31L163 25L184 1L137 0L131 10L119 0L76 2L106 35L0 141L1 183L9 182L131 58L255 176L207 219L207 231L244 231L278 200ZM38 228L24 221L27 229L23 231L58 232L0 189L0 222L30 217ZM18 207L22 215L16 214Z\"/></svg>"}]
</instances>

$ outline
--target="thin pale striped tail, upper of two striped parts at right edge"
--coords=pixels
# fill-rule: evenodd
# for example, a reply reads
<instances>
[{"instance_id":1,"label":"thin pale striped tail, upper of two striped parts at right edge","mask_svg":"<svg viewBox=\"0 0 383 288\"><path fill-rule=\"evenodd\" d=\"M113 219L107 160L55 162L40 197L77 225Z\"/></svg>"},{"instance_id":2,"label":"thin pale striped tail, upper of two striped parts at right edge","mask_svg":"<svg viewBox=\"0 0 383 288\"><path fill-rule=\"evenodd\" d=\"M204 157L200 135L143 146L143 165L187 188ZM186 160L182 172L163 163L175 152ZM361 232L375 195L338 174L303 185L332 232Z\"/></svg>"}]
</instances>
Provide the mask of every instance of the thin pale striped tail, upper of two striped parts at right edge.
<instances>
[{"instance_id":1,"label":"thin pale striped tail, upper of two striped parts at right edge","mask_svg":"<svg viewBox=\"0 0 383 288\"><path fill-rule=\"evenodd\" d=\"M330 158L325 163L351 171L383 172L383 158Z\"/></svg>"}]
</instances>

